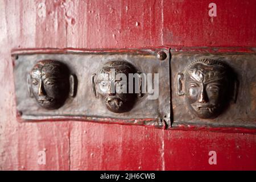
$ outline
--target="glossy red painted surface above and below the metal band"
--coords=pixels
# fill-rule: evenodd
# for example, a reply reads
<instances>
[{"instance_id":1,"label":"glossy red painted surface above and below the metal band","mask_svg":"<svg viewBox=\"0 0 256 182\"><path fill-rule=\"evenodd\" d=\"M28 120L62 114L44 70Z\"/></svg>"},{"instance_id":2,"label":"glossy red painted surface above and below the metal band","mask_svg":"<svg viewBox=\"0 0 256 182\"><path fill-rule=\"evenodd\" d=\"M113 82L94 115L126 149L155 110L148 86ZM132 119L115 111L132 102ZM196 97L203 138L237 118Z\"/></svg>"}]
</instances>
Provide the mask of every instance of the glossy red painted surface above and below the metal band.
<instances>
[{"instance_id":1,"label":"glossy red painted surface above and below the metal band","mask_svg":"<svg viewBox=\"0 0 256 182\"><path fill-rule=\"evenodd\" d=\"M208 5L217 5L217 17ZM39 3L45 4L40 8ZM45 16L44 16L45 15ZM0 169L256 169L256 135L16 119L13 48L256 47L251 1L0 1ZM38 151L46 150L46 165ZM217 152L209 165L208 152Z\"/></svg>"}]
</instances>

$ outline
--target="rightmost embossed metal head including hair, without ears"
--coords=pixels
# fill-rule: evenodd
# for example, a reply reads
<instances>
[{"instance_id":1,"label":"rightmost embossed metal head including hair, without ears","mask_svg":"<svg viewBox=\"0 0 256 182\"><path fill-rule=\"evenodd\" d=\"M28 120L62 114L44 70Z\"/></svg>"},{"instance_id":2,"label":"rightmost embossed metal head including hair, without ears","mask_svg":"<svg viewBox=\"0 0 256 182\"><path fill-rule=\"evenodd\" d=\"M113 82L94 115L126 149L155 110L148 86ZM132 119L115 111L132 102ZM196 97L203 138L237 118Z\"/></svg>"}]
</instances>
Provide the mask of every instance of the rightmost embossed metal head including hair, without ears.
<instances>
[{"instance_id":1,"label":"rightmost embossed metal head including hair, without ears","mask_svg":"<svg viewBox=\"0 0 256 182\"><path fill-rule=\"evenodd\" d=\"M199 118L216 118L226 104L228 71L221 61L203 59L190 64L185 73L185 98Z\"/></svg>"}]
</instances>

